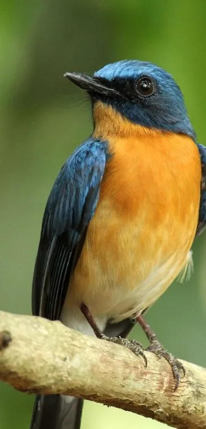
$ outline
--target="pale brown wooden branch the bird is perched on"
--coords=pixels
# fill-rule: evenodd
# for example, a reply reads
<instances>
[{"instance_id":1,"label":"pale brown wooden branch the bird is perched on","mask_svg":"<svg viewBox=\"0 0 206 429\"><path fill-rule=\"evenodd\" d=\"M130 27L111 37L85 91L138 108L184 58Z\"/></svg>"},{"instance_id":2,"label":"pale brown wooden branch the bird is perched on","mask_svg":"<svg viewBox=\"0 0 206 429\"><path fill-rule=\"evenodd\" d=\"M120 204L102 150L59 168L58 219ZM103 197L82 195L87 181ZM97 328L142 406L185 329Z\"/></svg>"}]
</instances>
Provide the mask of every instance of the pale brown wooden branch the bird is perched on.
<instances>
[{"instance_id":1,"label":"pale brown wooden branch the bird is perched on","mask_svg":"<svg viewBox=\"0 0 206 429\"><path fill-rule=\"evenodd\" d=\"M0 312L0 379L28 393L74 395L187 429L206 428L206 370L183 362L174 392L169 364L148 367L122 346L58 321Z\"/></svg>"}]
</instances>

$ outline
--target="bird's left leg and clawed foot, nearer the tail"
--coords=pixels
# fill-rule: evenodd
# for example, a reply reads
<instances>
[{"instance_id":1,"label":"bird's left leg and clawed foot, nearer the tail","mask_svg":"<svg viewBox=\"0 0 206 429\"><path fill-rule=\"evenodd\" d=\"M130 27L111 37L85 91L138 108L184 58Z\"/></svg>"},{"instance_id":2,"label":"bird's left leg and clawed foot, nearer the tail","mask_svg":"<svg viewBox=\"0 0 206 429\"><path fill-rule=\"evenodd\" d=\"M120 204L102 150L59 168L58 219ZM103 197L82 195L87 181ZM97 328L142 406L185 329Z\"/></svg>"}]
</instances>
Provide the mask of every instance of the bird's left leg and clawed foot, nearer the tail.
<instances>
[{"instance_id":1,"label":"bird's left leg and clawed foot, nearer the tail","mask_svg":"<svg viewBox=\"0 0 206 429\"><path fill-rule=\"evenodd\" d=\"M145 356L143 346L140 342L136 341L135 339L128 340L127 338L121 337L107 337L98 327L96 321L94 320L94 317L91 315L88 307L84 303L81 304L80 310L86 317L86 320L88 321L90 327L93 329L95 335L98 338L110 342L115 342L116 344L120 344L121 346L127 347L129 350L131 350L136 356L142 356L145 362L145 368L147 368L147 358Z\"/></svg>"}]
</instances>

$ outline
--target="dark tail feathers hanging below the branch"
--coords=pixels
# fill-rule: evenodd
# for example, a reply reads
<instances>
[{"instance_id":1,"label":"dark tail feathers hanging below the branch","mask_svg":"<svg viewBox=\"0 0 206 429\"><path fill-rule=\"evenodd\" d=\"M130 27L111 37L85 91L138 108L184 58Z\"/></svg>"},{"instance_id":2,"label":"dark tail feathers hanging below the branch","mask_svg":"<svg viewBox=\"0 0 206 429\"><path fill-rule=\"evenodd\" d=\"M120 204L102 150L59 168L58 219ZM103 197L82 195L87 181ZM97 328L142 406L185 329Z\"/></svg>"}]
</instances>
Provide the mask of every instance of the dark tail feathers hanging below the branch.
<instances>
[{"instance_id":1,"label":"dark tail feathers hanging below the branch","mask_svg":"<svg viewBox=\"0 0 206 429\"><path fill-rule=\"evenodd\" d=\"M60 395L37 396L30 429L79 429L83 401Z\"/></svg>"}]
</instances>

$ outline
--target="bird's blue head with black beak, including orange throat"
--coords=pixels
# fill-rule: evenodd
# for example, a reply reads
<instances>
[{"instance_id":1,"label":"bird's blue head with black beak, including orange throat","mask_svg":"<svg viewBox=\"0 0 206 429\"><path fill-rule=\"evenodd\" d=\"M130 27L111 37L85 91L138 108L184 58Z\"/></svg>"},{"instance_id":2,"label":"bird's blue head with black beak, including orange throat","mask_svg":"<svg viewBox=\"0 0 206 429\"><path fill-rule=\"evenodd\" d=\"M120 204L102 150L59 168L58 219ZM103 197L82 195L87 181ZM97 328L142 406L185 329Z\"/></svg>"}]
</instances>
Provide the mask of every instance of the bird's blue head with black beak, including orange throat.
<instances>
[{"instance_id":1,"label":"bird's blue head with black beak, including orange throat","mask_svg":"<svg viewBox=\"0 0 206 429\"><path fill-rule=\"evenodd\" d=\"M118 127L138 125L182 133L195 140L180 88L169 73L150 62L123 60L108 64L93 76L65 76L89 94L94 123L100 130L107 127L118 132Z\"/></svg>"}]
</instances>

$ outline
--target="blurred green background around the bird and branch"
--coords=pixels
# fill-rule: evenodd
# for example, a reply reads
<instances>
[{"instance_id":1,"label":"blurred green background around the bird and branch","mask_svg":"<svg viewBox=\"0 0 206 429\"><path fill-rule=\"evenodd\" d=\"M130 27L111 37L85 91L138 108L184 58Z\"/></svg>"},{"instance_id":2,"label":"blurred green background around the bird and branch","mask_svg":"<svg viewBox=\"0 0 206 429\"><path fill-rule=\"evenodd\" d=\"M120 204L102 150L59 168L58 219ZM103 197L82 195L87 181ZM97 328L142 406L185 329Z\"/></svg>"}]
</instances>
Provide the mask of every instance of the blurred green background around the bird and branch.
<instances>
[{"instance_id":1,"label":"blurred green background around the bird and branch","mask_svg":"<svg viewBox=\"0 0 206 429\"><path fill-rule=\"evenodd\" d=\"M2 0L0 14L0 305L31 312L42 214L53 181L91 132L85 95L63 78L108 62L157 63L179 83L199 142L205 131L202 1ZM206 366L205 237L193 246L194 274L174 283L147 314L173 354ZM145 342L140 328L133 337ZM28 429L34 397L0 385L0 429ZM161 428L161 423L87 402L82 428ZM163 426L163 425L162 425Z\"/></svg>"}]
</instances>

